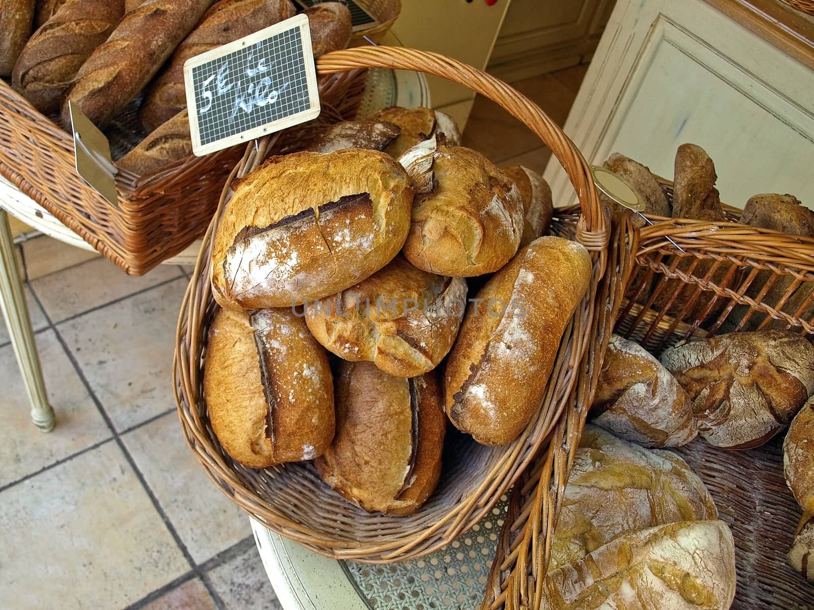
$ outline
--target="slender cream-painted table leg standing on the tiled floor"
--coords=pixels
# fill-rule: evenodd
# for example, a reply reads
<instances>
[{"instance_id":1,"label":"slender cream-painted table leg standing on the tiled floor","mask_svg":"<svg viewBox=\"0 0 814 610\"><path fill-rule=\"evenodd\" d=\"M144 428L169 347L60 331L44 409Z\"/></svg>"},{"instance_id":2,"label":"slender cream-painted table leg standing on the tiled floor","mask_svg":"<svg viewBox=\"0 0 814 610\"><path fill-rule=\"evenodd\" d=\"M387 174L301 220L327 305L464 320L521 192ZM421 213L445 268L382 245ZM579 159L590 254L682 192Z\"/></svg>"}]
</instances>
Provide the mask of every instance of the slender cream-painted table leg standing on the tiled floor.
<instances>
[{"instance_id":1,"label":"slender cream-painted table leg standing on the tiled floor","mask_svg":"<svg viewBox=\"0 0 814 610\"><path fill-rule=\"evenodd\" d=\"M8 225L8 214L0 207L0 307L6 318L11 344L23 373L25 389L31 401L31 420L43 432L54 428L54 409L48 402L46 384L42 379L40 357L34 342L31 317L25 303L23 284L14 254L14 240Z\"/></svg>"}]
</instances>

